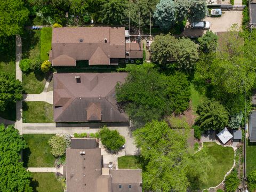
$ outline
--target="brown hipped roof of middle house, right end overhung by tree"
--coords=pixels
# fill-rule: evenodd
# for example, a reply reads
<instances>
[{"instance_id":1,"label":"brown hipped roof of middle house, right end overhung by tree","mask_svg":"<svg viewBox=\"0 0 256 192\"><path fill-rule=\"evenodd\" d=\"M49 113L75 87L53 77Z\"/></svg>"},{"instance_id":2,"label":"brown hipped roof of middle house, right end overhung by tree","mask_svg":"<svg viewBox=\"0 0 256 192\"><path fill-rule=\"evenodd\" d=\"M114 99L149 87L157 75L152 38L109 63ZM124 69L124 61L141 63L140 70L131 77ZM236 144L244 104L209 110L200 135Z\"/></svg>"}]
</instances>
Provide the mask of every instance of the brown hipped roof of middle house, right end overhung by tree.
<instances>
[{"instance_id":1,"label":"brown hipped roof of middle house, right end overhung by tree","mask_svg":"<svg viewBox=\"0 0 256 192\"><path fill-rule=\"evenodd\" d=\"M126 77L127 73L53 74L54 121L128 122L115 99L115 86Z\"/></svg>"}]
</instances>

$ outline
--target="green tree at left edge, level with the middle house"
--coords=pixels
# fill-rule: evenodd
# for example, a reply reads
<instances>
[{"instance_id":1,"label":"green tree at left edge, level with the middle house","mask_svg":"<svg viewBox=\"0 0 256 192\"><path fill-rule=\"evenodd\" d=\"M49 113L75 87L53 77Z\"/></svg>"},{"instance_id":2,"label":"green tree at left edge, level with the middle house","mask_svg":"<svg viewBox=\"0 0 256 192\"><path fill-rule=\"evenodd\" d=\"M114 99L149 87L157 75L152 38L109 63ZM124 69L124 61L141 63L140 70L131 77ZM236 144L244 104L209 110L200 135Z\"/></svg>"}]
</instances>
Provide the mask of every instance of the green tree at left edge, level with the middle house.
<instances>
[{"instance_id":1,"label":"green tree at left edge, level with the middle house","mask_svg":"<svg viewBox=\"0 0 256 192\"><path fill-rule=\"evenodd\" d=\"M0 73L0 110L4 111L8 103L22 99L22 84L14 75Z\"/></svg>"}]
</instances>

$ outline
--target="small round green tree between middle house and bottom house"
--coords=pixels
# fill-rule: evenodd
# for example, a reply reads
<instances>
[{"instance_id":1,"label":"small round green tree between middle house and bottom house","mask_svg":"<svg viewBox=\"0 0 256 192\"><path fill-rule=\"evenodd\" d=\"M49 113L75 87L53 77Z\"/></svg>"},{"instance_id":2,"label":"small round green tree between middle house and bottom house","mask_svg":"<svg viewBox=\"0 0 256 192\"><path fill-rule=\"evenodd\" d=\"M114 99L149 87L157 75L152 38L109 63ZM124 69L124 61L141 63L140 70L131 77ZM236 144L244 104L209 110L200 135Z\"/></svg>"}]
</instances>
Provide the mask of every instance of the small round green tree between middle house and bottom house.
<instances>
[{"instance_id":1,"label":"small round green tree between middle house and bottom house","mask_svg":"<svg viewBox=\"0 0 256 192\"><path fill-rule=\"evenodd\" d=\"M116 153L125 144L125 139L117 130L109 130L104 126L99 131L99 138L103 146L111 153Z\"/></svg>"}]
</instances>

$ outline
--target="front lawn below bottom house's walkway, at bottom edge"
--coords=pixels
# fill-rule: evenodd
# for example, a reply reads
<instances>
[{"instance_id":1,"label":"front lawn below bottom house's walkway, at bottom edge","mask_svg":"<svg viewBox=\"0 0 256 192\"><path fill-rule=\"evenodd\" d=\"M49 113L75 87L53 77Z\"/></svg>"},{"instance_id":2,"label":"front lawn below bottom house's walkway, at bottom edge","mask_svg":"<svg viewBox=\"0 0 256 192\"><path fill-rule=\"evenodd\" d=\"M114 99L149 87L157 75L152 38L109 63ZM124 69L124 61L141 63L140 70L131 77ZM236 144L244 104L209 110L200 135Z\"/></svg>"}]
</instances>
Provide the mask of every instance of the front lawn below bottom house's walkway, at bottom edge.
<instances>
[{"instance_id":1,"label":"front lawn below bottom house's walkway, at bottom edge","mask_svg":"<svg viewBox=\"0 0 256 192\"><path fill-rule=\"evenodd\" d=\"M61 182L54 173L32 173L31 186L34 192L63 192Z\"/></svg>"}]
</instances>

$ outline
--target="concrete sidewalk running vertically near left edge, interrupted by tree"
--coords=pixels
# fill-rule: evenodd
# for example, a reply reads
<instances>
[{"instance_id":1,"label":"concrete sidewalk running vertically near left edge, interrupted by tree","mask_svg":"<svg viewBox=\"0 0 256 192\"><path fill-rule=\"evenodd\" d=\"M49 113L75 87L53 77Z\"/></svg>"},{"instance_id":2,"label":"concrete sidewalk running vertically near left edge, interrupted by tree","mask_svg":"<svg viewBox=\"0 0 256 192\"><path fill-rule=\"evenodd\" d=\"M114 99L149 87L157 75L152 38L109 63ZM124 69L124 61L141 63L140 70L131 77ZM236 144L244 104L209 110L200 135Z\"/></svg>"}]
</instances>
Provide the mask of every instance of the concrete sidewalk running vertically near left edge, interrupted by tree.
<instances>
[{"instance_id":1,"label":"concrete sidewalk running vertically near left edge, interrupted by tree","mask_svg":"<svg viewBox=\"0 0 256 192\"><path fill-rule=\"evenodd\" d=\"M22 56L22 42L20 35L16 35L16 79L22 82L22 72L20 70L20 60ZM22 134L22 101L16 103L16 123L15 128Z\"/></svg>"}]
</instances>

